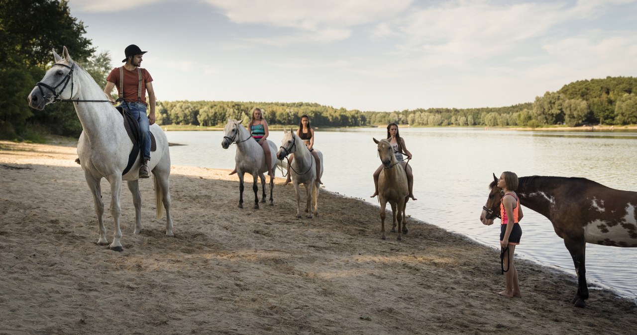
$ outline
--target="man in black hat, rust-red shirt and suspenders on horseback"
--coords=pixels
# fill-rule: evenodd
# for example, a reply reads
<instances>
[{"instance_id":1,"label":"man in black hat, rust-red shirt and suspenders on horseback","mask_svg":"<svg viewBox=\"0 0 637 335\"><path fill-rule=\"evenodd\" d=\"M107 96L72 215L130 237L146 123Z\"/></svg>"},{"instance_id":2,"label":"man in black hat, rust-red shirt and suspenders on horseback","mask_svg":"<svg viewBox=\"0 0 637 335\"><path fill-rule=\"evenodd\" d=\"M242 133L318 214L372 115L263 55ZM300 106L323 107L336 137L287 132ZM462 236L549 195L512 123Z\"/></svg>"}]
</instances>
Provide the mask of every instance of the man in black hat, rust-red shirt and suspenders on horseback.
<instances>
[{"instance_id":1,"label":"man in black hat, rust-red shirt and suspenders on horseback","mask_svg":"<svg viewBox=\"0 0 637 335\"><path fill-rule=\"evenodd\" d=\"M124 66L113 69L106 78L104 93L115 104L111 97L113 86L117 87L119 98L117 101L128 109L129 113L140 123L141 158L143 163L140 166L140 178L148 178L148 160L150 160L150 125L155 123L155 91L153 90L153 78L146 69L141 69L141 57L148 51L141 51L139 46L131 44L126 47L124 54L126 58ZM123 80L122 80L123 78ZM116 85L117 84L117 85ZM148 103L150 104L150 114L146 115L146 92L148 92Z\"/></svg>"}]
</instances>

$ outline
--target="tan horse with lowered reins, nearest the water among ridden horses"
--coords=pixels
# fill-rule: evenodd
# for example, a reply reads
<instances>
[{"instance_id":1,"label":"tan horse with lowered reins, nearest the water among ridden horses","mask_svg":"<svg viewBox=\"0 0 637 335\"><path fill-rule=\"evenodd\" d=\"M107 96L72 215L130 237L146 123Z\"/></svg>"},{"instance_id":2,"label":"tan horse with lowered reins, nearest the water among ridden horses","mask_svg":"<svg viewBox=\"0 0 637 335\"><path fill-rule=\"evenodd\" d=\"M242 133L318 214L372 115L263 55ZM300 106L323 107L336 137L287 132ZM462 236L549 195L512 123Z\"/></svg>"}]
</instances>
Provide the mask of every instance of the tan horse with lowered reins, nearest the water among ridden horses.
<instances>
[{"instance_id":1,"label":"tan horse with lowered reins, nearest the water among ridden horses","mask_svg":"<svg viewBox=\"0 0 637 335\"><path fill-rule=\"evenodd\" d=\"M387 202L392 207L392 233L398 233L397 240L402 240L401 231L407 233L407 219L404 214L407 207L409 188L407 173L403 165L396 160L394 149L389 140L382 139L374 142L378 144L378 156L383 163L383 170L378 176L378 201L380 202L380 238L385 240L385 206ZM396 230L396 221L398 229ZM402 223L402 227L401 227Z\"/></svg>"}]
</instances>

